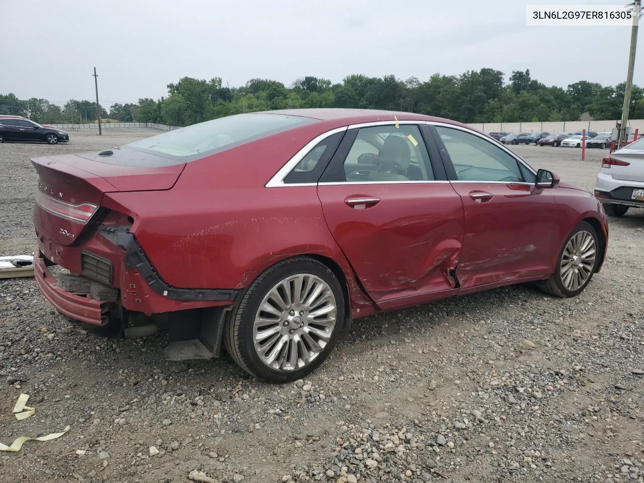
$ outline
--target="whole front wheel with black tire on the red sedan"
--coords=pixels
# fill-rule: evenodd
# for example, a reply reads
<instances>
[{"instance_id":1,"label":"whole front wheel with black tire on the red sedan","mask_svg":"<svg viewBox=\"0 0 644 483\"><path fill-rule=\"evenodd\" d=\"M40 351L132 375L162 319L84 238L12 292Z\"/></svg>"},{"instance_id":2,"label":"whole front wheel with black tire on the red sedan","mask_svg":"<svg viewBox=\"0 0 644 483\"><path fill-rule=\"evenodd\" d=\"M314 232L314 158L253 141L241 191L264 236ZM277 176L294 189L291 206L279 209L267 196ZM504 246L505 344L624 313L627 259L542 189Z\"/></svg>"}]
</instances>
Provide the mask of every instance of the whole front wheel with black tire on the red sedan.
<instances>
[{"instance_id":1,"label":"whole front wheel with black tire on the red sedan","mask_svg":"<svg viewBox=\"0 0 644 483\"><path fill-rule=\"evenodd\" d=\"M557 265L549 279L538 286L561 298L578 296L592 279L600 247L597 232L590 223L581 222L566 238Z\"/></svg>"}]
</instances>

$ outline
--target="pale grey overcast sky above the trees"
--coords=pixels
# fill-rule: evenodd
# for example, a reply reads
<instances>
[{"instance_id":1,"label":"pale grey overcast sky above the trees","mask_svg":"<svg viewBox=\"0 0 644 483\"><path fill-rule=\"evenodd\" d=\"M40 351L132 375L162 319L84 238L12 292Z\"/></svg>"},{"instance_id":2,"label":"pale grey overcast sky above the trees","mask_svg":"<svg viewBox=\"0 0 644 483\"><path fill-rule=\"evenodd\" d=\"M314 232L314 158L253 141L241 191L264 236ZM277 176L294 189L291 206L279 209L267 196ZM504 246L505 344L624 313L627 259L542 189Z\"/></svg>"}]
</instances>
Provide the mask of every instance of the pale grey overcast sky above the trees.
<instances>
[{"instance_id":1,"label":"pale grey overcast sky above the trees","mask_svg":"<svg viewBox=\"0 0 644 483\"><path fill-rule=\"evenodd\" d=\"M288 86L304 75L424 81L489 67L506 79L529 69L533 79L564 88L582 80L614 85L626 76L630 27L528 27L526 5L629 2L0 0L0 93L61 104L94 99L94 67L106 107L158 99L184 76Z\"/></svg>"}]
</instances>

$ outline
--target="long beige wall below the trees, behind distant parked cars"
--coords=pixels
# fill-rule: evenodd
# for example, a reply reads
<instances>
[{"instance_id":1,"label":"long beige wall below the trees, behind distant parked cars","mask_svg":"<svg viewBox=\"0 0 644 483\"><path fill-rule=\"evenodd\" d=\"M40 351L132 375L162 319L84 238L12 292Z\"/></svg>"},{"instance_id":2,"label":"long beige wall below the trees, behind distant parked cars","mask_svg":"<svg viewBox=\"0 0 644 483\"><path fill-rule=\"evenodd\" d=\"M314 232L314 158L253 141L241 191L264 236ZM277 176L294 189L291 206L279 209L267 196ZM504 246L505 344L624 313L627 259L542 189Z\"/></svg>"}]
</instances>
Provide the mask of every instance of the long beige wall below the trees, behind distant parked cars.
<instances>
[{"instance_id":1,"label":"long beige wall below the trees, behind distant parked cars","mask_svg":"<svg viewBox=\"0 0 644 483\"><path fill-rule=\"evenodd\" d=\"M485 122L468 124L471 128L478 129L484 133L506 131L507 133L531 133L533 131L547 131L556 133L574 133L586 129L597 133L610 133L616 126L616 120L605 121L560 121L560 122ZM633 119L629 121L630 128L635 131L639 129L644 133L644 119Z\"/></svg>"}]
</instances>

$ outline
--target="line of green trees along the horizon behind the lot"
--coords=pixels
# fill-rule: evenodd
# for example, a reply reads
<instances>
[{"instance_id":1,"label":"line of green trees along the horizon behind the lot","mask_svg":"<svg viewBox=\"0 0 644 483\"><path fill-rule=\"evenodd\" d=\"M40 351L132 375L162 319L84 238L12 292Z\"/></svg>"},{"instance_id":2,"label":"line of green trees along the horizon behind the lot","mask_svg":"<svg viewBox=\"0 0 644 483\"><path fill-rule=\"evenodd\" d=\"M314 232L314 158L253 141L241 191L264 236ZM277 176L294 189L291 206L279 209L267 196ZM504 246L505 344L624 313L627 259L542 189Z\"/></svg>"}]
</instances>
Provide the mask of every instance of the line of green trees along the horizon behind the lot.
<instances>
[{"instance_id":1,"label":"line of green trees along the horizon behind the lot","mask_svg":"<svg viewBox=\"0 0 644 483\"><path fill-rule=\"evenodd\" d=\"M102 118L120 122L160 122L188 126L232 114L269 109L365 108L412 111L460 122L540 122L578 120L587 112L597 120L621 118L625 84L602 86L579 81L567 88L545 86L530 71L504 73L490 68L461 75L435 74L428 81L406 81L394 75L349 75L333 84L319 77L301 77L285 86L270 79L251 79L241 87L223 86L220 77L209 81L183 77L167 85L167 96L115 103ZM70 99L62 108L46 99L17 99L0 94L0 113L25 115L41 123L93 122L96 103ZM633 86L630 118L644 118L644 90Z\"/></svg>"}]
</instances>

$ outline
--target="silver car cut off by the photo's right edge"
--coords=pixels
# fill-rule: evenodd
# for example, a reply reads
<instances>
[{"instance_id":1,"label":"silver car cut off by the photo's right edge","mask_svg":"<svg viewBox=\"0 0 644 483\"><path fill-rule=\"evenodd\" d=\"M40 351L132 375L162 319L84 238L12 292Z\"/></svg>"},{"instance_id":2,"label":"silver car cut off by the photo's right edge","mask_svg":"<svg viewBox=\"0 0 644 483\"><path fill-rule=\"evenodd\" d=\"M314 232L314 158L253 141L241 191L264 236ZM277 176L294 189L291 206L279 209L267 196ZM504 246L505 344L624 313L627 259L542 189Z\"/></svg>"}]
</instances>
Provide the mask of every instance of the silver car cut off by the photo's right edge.
<instances>
[{"instance_id":1,"label":"silver car cut off by the photo's right edge","mask_svg":"<svg viewBox=\"0 0 644 483\"><path fill-rule=\"evenodd\" d=\"M644 208L644 138L603 158L594 191L610 216Z\"/></svg>"}]
</instances>

